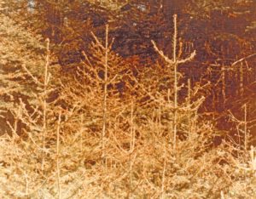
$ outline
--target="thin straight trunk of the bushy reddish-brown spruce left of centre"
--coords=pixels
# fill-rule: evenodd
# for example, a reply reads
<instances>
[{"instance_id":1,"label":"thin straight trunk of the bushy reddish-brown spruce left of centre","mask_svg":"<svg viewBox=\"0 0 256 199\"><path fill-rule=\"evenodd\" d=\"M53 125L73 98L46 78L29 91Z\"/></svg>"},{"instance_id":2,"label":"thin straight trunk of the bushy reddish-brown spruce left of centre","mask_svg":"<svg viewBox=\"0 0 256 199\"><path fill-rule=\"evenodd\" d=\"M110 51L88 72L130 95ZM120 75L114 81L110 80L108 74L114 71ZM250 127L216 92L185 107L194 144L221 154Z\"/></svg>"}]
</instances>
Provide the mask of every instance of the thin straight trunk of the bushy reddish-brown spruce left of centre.
<instances>
[{"instance_id":1,"label":"thin straight trunk of the bushy reddish-brown spruce left of centre","mask_svg":"<svg viewBox=\"0 0 256 199\"><path fill-rule=\"evenodd\" d=\"M107 123L107 98L108 98L108 25L106 26L105 38L105 75L104 75L104 95L103 95L103 124L102 124L102 160L105 158L105 135ZM104 161L103 161L104 162Z\"/></svg>"}]
</instances>

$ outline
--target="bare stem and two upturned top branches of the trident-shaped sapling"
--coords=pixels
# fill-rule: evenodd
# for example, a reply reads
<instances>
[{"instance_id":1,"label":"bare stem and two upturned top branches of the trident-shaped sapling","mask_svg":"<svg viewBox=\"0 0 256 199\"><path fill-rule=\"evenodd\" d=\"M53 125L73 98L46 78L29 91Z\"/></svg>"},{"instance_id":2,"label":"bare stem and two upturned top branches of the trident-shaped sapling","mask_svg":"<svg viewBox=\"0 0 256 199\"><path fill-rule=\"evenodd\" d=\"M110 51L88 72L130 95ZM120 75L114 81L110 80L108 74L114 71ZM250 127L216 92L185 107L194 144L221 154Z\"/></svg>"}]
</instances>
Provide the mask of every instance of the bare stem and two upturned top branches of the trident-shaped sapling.
<instances>
[{"instance_id":1,"label":"bare stem and two upturned top branches of the trident-shaped sapling","mask_svg":"<svg viewBox=\"0 0 256 199\"><path fill-rule=\"evenodd\" d=\"M176 138L177 138L177 111L178 111L178 101L177 101L177 95L178 95L178 77L177 77L177 66L179 64L183 64L186 63L190 60L193 60L195 58L195 51L189 55L188 58L186 59L179 59L181 54L178 54L177 56L177 15L175 14L173 16L173 25L174 25L174 33L173 33L173 38L172 38L172 59L168 58L158 47L157 45L154 43L154 41L152 41L153 45L154 45L154 49L156 50L156 52L158 54L160 54L160 56L166 61L166 63L169 65L170 67L170 72L171 70L174 71L174 83L173 83L173 89L174 89L174 98L173 98L173 102L174 102L174 106L173 106L173 122L172 122L172 131L173 131L173 148L175 149L176 146Z\"/></svg>"}]
</instances>

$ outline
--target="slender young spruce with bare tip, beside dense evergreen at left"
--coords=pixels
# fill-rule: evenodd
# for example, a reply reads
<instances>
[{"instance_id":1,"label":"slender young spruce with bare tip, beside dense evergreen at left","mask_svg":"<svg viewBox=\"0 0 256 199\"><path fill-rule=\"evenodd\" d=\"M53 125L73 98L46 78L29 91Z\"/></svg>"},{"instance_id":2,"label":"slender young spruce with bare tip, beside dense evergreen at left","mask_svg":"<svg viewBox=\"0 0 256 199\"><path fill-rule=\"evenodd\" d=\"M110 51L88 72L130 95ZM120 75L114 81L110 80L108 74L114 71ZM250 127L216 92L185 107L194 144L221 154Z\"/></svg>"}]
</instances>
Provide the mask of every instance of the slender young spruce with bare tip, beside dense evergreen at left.
<instances>
[{"instance_id":1,"label":"slender young spruce with bare tip, beside dense evergreen at left","mask_svg":"<svg viewBox=\"0 0 256 199\"><path fill-rule=\"evenodd\" d=\"M55 67L49 69L49 56L49 39L46 39L46 54L42 74L35 74L26 67L26 64L22 65L25 76L31 79L37 89L32 92L34 96L33 103L28 102L29 104L26 104L20 98L20 112L18 114L15 113L18 119L24 124L23 131L26 136L32 140L34 145L38 145L39 147L42 173L44 173L46 165L49 169L49 162L45 158L49 156L49 140L52 139L51 134L55 129L53 118L55 118L55 111L57 109L54 103L55 101L49 100L49 94L56 89L55 82L51 81L53 78L51 71Z\"/></svg>"}]
</instances>

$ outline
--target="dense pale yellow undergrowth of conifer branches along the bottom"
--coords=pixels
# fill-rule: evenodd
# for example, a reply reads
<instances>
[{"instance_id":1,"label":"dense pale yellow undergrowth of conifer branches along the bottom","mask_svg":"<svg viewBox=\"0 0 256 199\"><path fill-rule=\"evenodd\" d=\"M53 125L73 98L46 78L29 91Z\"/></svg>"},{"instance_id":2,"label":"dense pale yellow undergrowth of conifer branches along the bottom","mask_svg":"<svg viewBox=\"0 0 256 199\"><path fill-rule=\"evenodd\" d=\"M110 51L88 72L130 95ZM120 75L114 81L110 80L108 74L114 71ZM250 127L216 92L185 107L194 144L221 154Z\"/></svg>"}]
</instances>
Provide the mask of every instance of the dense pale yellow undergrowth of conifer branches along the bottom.
<instances>
[{"instance_id":1,"label":"dense pale yellow undergrowth of conifer branches along the bottom","mask_svg":"<svg viewBox=\"0 0 256 199\"><path fill-rule=\"evenodd\" d=\"M149 122L151 123L151 122ZM253 198L255 149L239 151L224 143L207 146L209 126L190 139L177 139L176 151L165 137L140 129L140 138L110 131L102 164L101 138L80 130L61 135L59 152L48 148L41 170L37 145L19 137L1 138L3 198ZM62 133L63 129L62 129ZM131 140L133 139L133 140ZM130 143L133 144L130 148ZM254 151L253 151L254 150Z\"/></svg>"}]
</instances>

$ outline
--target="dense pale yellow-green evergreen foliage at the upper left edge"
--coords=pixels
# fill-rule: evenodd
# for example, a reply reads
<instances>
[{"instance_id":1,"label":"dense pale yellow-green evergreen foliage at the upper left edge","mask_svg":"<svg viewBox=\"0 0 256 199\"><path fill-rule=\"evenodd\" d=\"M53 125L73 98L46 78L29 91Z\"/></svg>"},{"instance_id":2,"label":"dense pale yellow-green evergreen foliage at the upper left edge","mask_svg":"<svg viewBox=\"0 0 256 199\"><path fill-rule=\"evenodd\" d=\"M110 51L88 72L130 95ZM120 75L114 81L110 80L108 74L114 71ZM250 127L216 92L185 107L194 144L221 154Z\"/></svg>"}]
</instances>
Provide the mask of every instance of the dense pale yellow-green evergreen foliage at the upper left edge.
<instances>
[{"instance_id":1,"label":"dense pale yellow-green evergreen foliage at the upper left edge","mask_svg":"<svg viewBox=\"0 0 256 199\"><path fill-rule=\"evenodd\" d=\"M40 78L44 72L42 54L45 47L40 42L41 37L26 31L6 14L2 13L0 20L0 106L3 112L8 111L4 116L10 119L1 121L4 133L8 129L7 122L14 122L12 113L20 99L32 103L33 92L38 88L34 84L35 79L32 79L24 68L31 71L35 78Z\"/></svg>"}]
</instances>

